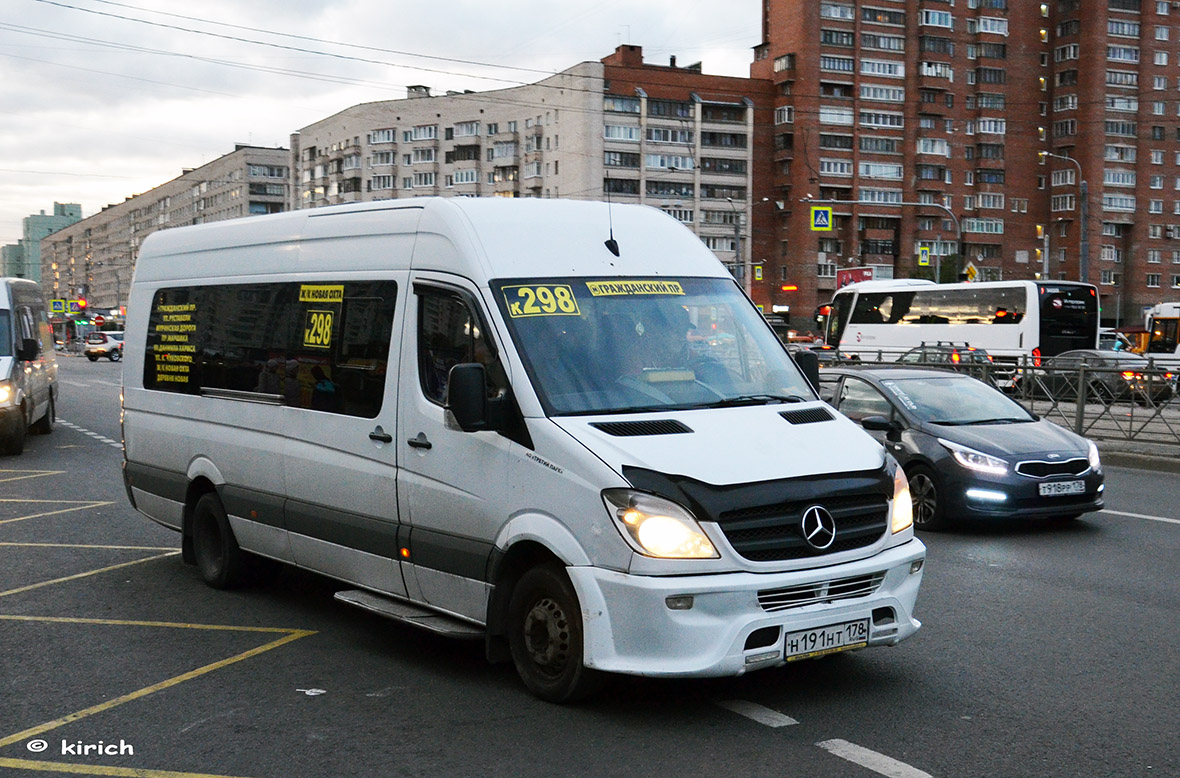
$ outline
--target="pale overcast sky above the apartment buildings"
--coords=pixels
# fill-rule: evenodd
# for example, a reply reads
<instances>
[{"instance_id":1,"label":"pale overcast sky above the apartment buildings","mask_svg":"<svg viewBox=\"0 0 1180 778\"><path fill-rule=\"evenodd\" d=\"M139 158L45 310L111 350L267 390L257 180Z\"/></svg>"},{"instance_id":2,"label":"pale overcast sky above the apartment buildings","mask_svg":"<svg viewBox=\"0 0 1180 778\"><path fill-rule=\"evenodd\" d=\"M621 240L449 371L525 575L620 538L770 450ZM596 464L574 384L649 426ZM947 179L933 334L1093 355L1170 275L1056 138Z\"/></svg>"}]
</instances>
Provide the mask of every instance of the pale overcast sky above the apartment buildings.
<instances>
[{"instance_id":1,"label":"pale overcast sky above the apartment buildings","mask_svg":"<svg viewBox=\"0 0 1180 778\"><path fill-rule=\"evenodd\" d=\"M0 244L405 86L531 83L620 44L748 76L761 0L0 0ZM280 34L282 33L282 34Z\"/></svg>"}]
</instances>

